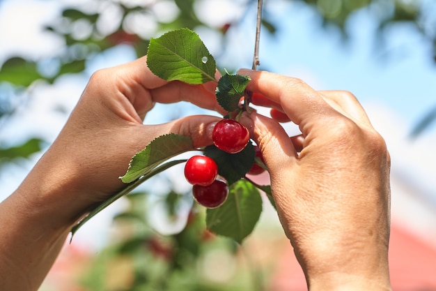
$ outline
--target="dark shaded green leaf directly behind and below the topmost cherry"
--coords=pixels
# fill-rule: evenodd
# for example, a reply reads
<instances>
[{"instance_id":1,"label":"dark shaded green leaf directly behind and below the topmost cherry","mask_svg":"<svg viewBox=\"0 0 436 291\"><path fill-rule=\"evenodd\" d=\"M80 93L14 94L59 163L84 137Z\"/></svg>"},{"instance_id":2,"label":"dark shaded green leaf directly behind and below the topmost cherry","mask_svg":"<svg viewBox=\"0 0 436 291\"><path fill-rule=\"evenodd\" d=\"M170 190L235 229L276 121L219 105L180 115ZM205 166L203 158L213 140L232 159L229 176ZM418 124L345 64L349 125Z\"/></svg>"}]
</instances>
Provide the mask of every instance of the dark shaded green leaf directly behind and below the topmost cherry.
<instances>
[{"instance_id":1,"label":"dark shaded green leaf directly behind and below the topmost cherry","mask_svg":"<svg viewBox=\"0 0 436 291\"><path fill-rule=\"evenodd\" d=\"M228 154L211 145L205 147L205 156L213 158L218 165L218 173L231 185L247 174L254 163L254 146L249 142L247 147L237 154Z\"/></svg>"}]
</instances>

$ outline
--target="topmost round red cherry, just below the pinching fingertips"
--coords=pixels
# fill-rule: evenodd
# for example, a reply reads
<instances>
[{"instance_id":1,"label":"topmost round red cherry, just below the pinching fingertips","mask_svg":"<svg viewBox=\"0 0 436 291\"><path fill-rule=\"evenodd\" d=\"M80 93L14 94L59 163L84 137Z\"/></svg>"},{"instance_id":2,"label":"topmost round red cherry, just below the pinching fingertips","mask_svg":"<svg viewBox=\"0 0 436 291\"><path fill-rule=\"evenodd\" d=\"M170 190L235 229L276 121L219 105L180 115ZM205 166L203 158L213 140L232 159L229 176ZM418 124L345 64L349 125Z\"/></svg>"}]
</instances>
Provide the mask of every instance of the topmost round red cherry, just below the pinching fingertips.
<instances>
[{"instance_id":1,"label":"topmost round red cherry, just below the pinching fingertips","mask_svg":"<svg viewBox=\"0 0 436 291\"><path fill-rule=\"evenodd\" d=\"M233 119L218 121L212 131L212 140L218 149L236 154L244 149L250 139L248 129Z\"/></svg>"}]
</instances>

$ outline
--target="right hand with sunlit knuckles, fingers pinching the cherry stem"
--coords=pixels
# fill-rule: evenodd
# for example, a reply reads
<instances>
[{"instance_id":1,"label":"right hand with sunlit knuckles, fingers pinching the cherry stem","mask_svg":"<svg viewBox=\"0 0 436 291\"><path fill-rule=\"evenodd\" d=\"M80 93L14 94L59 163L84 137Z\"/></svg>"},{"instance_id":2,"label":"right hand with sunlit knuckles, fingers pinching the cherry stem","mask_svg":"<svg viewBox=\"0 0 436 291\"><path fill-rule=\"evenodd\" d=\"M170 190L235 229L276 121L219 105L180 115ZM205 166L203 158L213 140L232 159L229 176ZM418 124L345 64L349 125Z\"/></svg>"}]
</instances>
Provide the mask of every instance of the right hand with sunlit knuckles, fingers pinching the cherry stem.
<instances>
[{"instance_id":1,"label":"right hand with sunlit knuckles, fingers pinching the cherry stem","mask_svg":"<svg viewBox=\"0 0 436 291\"><path fill-rule=\"evenodd\" d=\"M249 75L254 103L295 122L290 138L256 112L241 121L263 152L283 229L310 290L389 290L389 154L352 94ZM277 114L277 112L283 112Z\"/></svg>"}]
</instances>

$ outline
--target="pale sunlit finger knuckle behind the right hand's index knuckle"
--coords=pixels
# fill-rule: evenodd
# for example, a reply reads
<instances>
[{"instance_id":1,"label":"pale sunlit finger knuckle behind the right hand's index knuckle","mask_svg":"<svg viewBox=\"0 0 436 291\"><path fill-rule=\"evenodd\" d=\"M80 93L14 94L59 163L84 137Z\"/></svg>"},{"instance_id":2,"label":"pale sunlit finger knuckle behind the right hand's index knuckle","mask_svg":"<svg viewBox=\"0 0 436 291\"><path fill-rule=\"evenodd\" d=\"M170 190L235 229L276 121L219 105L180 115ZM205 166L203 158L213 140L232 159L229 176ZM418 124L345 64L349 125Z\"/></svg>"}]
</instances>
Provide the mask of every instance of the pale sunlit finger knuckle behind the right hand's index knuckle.
<instances>
[{"instance_id":1,"label":"pale sunlit finger knuckle behind the right hand's index knuckle","mask_svg":"<svg viewBox=\"0 0 436 291\"><path fill-rule=\"evenodd\" d=\"M371 126L368 115L364 108L357 100L356 96L348 91L320 91L320 94L325 98L336 110L352 119L357 124L366 124Z\"/></svg>"}]
</instances>

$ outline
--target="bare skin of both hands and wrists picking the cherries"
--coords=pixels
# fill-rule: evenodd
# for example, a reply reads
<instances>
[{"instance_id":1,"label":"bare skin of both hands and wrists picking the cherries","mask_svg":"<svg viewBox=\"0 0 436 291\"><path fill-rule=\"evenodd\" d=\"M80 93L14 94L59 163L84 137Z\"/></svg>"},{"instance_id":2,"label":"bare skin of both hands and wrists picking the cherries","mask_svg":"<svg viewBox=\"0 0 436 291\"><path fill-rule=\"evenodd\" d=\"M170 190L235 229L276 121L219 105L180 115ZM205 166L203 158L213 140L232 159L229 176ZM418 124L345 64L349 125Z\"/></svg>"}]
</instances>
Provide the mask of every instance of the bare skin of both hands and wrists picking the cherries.
<instances>
[{"instance_id":1,"label":"bare skin of both hands and wrists picking the cherries","mask_svg":"<svg viewBox=\"0 0 436 291\"><path fill-rule=\"evenodd\" d=\"M310 290L390 290L389 154L355 98L249 70L255 103L299 124L290 138L277 120L244 114L270 169L279 218ZM146 58L99 70L68 122L26 179L0 203L0 290L34 291L70 229L123 186L130 158L165 133L212 144L219 117L191 116L148 126L155 103L186 100L225 114L214 83L164 82ZM256 99L256 98L254 98Z\"/></svg>"}]
</instances>

